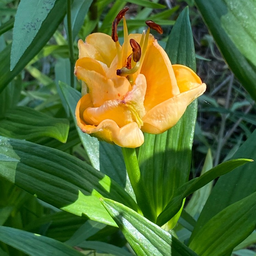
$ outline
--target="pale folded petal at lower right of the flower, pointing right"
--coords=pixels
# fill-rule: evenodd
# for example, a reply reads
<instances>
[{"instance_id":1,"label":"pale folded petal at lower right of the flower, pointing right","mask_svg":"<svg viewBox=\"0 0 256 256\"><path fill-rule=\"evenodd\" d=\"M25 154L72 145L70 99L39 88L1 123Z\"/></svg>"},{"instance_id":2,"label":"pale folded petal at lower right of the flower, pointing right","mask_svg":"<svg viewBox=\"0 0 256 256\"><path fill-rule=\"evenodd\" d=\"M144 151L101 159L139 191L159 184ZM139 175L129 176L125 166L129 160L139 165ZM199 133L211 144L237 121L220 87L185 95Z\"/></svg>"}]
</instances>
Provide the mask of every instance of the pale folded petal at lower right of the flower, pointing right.
<instances>
[{"instance_id":1,"label":"pale folded petal at lower right of the flower, pointing right","mask_svg":"<svg viewBox=\"0 0 256 256\"><path fill-rule=\"evenodd\" d=\"M158 134L173 127L184 114L187 106L202 95L206 89L205 84L178 94L148 111L142 118L144 125L141 130L147 133Z\"/></svg>"}]
</instances>

